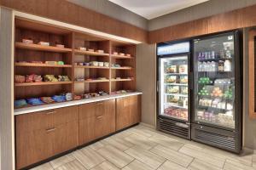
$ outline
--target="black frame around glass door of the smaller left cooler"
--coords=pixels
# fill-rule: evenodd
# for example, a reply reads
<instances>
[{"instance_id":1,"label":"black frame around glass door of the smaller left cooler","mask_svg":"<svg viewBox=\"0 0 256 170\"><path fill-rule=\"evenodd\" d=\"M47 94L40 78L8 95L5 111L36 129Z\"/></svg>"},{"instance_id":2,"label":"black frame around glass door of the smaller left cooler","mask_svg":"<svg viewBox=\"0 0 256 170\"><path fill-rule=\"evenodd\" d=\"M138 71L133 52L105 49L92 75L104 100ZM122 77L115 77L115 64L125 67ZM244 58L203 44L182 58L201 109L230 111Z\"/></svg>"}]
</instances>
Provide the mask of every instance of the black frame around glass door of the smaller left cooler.
<instances>
[{"instance_id":1,"label":"black frame around glass door of the smaller left cooler","mask_svg":"<svg viewBox=\"0 0 256 170\"><path fill-rule=\"evenodd\" d=\"M176 43L179 43L179 42L189 42L189 52L187 53L180 53L180 54L165 54L165 55L158 55L157 54L157 50L156 50L156 71L157 71L157 74L156 74L156 111L157 111L157 116L156 116L156 127L158 130L159 129L159 120L160 119L167 119L167 120L171 120L172 122L181 122L181 123L184 123L186 125L189 126L189 137L186 138L186 139L191 139L191 83L193 81L191 81L191 75L193 76L192 71L191 71L191 41L177 41L177 42L172 42L172 43L168 43L168 42L162 42L162 43L158 43L156 48L160 47L160 46L164 46L164 45L172 45L172 44L176 44ZM160 59L162 58L172 58L172 57L181 57L181 56L187 56L188 57L188 88L189 88L189 94L188 94L188 99L189 99L189 105L188 105L188 121L184 121L182 119L177 119L177 118L174 118L174 117L171 117L171 116L163 116L163 115L160 115ZM193 79L192 79L193 80ZM179 136L178 134L174 134L174 135L177 135ZM180 137L183 137L183 136L180 136Z\"/></svg>"}]
</instances>

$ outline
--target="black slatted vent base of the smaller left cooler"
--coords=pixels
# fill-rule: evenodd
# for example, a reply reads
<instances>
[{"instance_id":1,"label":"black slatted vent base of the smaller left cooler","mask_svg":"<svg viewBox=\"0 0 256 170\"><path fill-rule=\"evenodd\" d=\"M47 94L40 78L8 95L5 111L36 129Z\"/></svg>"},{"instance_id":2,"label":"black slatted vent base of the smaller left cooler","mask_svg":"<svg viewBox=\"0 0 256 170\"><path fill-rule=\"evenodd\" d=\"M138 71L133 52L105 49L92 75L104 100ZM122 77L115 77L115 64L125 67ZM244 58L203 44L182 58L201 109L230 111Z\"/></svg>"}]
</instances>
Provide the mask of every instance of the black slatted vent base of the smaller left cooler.
<instances>
[{"instance_id":1,"label":"black slatted vent base of the smaller left cooler","mask_svg":"<svg viewBox=\"0 0 256 170\"><path fill-rule=\"evenodd\" d=\"M157 129L164 133L170 133L184 139L190 139L190 124L185 122L177 122L172 119L158 117Z\"/></svg>"}]
</instances>

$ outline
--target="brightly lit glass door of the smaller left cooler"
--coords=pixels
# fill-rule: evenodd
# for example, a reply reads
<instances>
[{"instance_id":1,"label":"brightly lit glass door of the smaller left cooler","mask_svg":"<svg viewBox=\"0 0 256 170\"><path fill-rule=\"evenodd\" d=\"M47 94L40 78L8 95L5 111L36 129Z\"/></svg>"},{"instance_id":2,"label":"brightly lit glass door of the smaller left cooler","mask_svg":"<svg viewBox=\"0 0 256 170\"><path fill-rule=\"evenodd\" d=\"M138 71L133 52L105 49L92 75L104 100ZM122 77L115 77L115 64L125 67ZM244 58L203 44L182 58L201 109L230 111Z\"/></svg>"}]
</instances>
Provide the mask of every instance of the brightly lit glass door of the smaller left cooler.
<instances>
[{"instance_id":1,"label":"brightly lit glass door of the smaller left cooler","mask_svg":"<svg viewBox=\"0 0 256 170\"><path fill-rule=\"evenodd\" d=\"M160 115L188 122L188 55L160 58Z\"/></svg>"}]
</instances>

